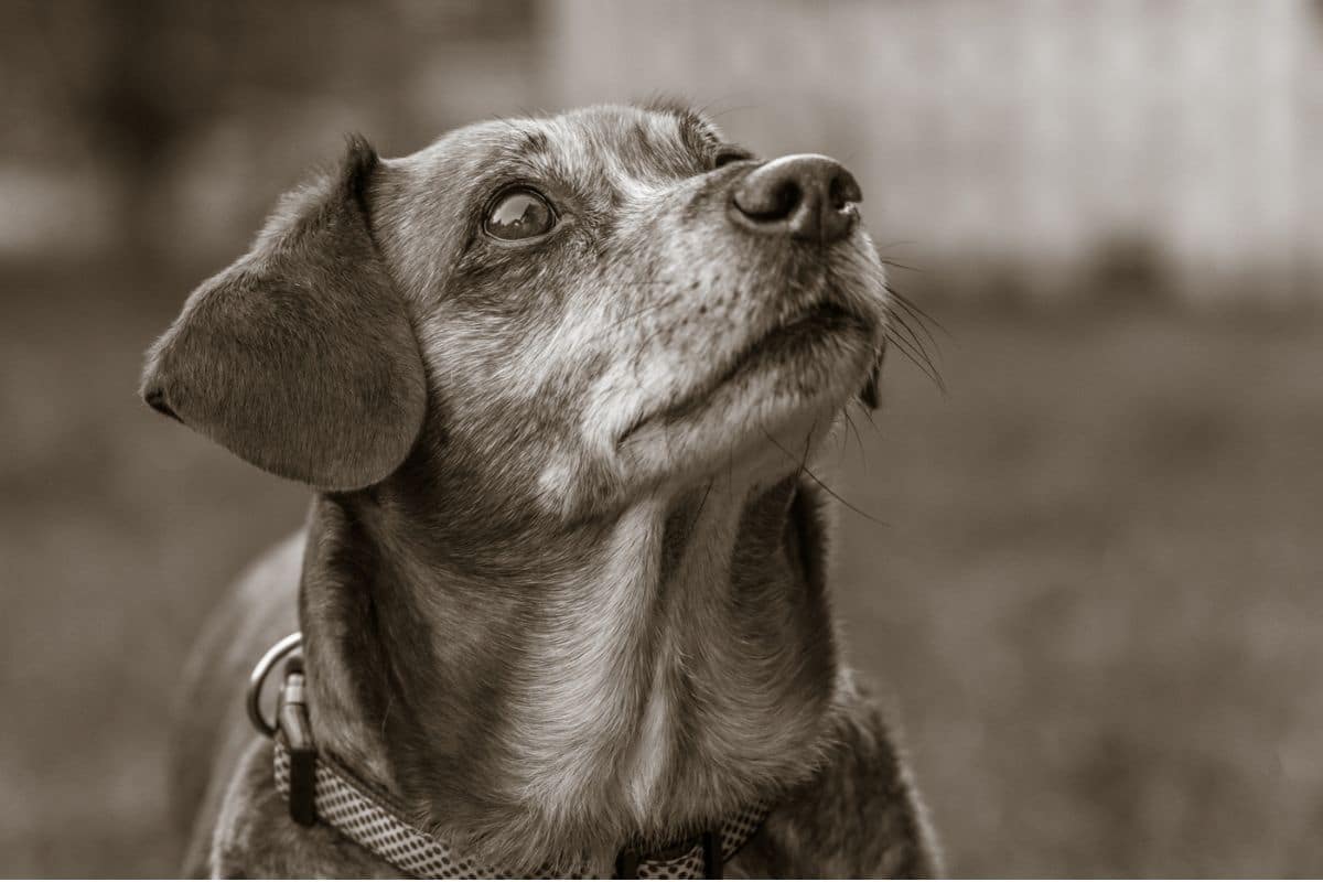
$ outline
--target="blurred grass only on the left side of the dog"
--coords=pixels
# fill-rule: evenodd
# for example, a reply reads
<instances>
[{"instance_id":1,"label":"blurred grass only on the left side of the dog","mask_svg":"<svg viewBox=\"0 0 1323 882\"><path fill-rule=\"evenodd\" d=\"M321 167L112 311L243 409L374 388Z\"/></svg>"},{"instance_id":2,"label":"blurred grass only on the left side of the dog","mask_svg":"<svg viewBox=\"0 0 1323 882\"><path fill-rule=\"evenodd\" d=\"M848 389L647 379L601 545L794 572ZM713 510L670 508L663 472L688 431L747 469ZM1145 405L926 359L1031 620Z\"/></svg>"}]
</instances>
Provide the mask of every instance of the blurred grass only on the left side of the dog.
<instances>
[{"instance_id":1,"label":"blurred grass only on the left side of the dog","mask_svg":"<svg viewBox=\"0 0 1323 882\"><path fill-rule=\"evenodd\" d=\"M9 270L0 298L0 874L173 874L184 653L306 495L163 422L142 350L210 268Z\"/></svg>"}]
</instances>

